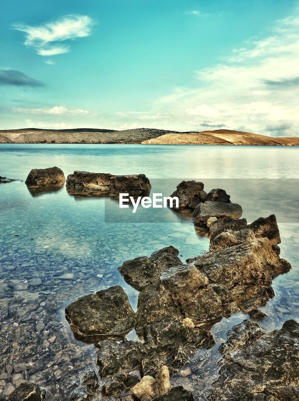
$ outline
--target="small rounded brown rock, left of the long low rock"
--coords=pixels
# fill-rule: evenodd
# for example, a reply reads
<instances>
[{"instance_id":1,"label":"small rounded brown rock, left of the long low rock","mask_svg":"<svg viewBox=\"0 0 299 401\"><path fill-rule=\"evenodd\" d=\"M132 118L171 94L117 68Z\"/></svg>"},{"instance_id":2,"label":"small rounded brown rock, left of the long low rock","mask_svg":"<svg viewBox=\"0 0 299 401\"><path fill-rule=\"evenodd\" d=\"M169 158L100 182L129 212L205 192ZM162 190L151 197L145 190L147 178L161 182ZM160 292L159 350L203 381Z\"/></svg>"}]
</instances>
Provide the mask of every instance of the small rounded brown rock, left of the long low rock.
<instances>
[{"instance_id":1,"label":"small rounded brown rock, left of the long low rock","mask_svg":"<svg viewBox=\"0 0 299 401\"><path fill-rule=\"evenodd\" d=\"M63 185L65 176L58 167L34 168L28 174L25 184L27 186Z\"/></svg>"}]
</instances>

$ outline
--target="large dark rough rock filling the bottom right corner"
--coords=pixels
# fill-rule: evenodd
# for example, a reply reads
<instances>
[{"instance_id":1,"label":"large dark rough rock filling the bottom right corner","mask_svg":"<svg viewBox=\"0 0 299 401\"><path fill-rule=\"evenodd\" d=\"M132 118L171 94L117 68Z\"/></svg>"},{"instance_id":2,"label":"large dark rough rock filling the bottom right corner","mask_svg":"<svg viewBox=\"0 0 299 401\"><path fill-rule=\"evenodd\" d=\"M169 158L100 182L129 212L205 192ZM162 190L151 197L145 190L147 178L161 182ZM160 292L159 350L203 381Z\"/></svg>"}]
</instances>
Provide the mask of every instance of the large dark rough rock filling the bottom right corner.
<instances>
[{"instance_id":1,"label":"large dark rough rock filling the bottom right corner","mask_svg":"<svg viewBox=\"0 0 299 401\"><path fill-rule=\"evenodd\" d=\"M288 320L232 356L211 387L210 401L296 399L299 385L299 324ZM297 394L296 394L297 393ZM290 397L290 398L288 398Z\"/></svg>"}]
</instances>

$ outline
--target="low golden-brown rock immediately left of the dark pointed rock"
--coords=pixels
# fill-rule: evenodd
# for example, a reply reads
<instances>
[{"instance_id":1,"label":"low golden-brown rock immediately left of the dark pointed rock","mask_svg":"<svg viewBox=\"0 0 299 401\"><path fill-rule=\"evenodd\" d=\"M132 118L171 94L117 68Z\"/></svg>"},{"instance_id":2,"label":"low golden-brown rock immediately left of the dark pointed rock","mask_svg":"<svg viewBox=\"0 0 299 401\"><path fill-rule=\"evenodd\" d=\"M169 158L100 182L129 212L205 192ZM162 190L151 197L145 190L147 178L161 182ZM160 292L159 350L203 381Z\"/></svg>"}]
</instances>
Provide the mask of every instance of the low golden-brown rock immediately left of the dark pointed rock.
<instances>
[{"instance_id":1,"label":"low golden-brown rock immediately left of the dark pointed rock","mask_svg":"<svg viewBox=\"0 0 299 401\"><path fill-rule=\"evenodd\" d=\"M242 229L240 231L227 230L218 234L212 241L210 241L210 249L211 251L217 251L218 249L250 242L254 238L254 233L250 229Z\"/></svg>"}]
</instances>

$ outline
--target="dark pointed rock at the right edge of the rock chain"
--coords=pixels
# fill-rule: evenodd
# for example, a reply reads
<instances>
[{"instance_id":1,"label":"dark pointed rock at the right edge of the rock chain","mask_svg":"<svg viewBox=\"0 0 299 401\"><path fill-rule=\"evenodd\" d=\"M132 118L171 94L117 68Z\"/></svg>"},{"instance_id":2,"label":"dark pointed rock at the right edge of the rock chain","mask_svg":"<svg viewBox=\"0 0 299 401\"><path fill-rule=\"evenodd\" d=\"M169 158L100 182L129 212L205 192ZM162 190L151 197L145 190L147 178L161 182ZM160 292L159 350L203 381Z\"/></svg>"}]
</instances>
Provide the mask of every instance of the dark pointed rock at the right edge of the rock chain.
<instances>
[{"instance_id":1,"label":"dark pointed rock at the right edge of the rock chain","mask_svg":"<svg viewBox=\"0 0 299 401\"><path fill-rule=\"evenodd\" d=\"M248 228L253 231L256 238L268 238L272 246L281 243L275 215L260 217L253 223L249 224Z\"/></svg>"}]
</instances>

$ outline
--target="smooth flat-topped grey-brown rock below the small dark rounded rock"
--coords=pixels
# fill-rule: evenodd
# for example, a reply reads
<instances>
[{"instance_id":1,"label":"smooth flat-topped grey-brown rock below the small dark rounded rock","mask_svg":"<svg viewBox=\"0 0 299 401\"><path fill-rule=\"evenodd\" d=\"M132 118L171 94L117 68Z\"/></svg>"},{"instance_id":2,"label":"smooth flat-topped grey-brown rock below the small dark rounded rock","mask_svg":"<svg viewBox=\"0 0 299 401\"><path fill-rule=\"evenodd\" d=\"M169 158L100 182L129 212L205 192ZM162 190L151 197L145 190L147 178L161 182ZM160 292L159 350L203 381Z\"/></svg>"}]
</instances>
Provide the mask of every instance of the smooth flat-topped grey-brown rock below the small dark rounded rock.
<instances>
[{"instance_id":1,"label":"smooth flat-topped grey-brown rock below the small dark rounded rock","mask_svg":"<svg viewBox=\"0 0 299 401\"><path fill-rule=\"evenodd\" d=\"M210 217L239 219L241 216L242 207L237 203L205 201L195 207L192 220L195 225L206 225Z\"/></svg>"}]
</instances>

